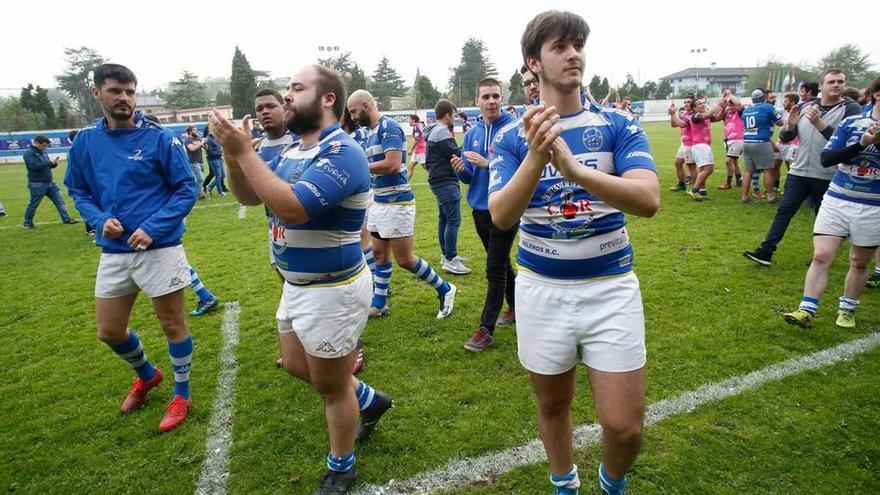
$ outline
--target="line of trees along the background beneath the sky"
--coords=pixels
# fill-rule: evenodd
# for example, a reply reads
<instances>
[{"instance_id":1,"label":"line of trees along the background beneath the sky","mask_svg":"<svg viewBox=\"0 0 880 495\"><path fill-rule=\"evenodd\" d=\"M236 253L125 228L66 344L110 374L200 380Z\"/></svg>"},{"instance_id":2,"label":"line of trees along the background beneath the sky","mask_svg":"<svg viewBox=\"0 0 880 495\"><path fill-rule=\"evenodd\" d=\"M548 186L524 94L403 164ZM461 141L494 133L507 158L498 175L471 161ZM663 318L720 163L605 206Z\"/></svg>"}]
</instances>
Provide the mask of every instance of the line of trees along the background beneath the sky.
<instances>
[{"instance_id":1,"label":"line of trees along the background beneath the sky","mask_svg":"<svg viewBox=\"0 0 880 495\"><path fill-rule=\"evenodd\" d=\"M28 84L21 89L18 97L0 101L0 131L76 127L101 116L100 105L91 96L89 75L95 67L107 60L98 51L85 46L65 48L64 55L68 63L64 71L55 76L57 90ZM361 68L351 52L319 57L317 62L338 71L349 92L357 89L370 91L376 97L379 109L383 111L392 108L392 100L395 98L403 99L400 103L405 108L430 108L441 97L452 100L460 107L471 106L477 82L486 77L501 80L485 44L477 38L468 38L462 44L458 64L449 68L450 76L445 90L438 89L418 69L412 87L406 86L404 78L385 56L378 61L371 74ZM748 85L784 86L784 83L791 85L794 81L815 81L818 74L828 67L843 69L849 85L854 87L865 86L878 75L871 70L869 56L858 46L847 44L830 51L811 66L771 60L750 75ZM149 94L160 97L171 112L209 105L231 105L233 116L241 118L252 112L257 91L262 88L281 89L276 87L279 84L270 76L266 71L252 68L245 54L235 47L228 79L199 80L196 74L184 70L179 79L169 82L164 89L153 90ZM506 99L509 104L527 103L522 91L519 67L501 82L507 86ZM595 74L584 89L588 89L597 100L607 95L612 100L620 97L634 101L673 96L672 87L667 81L646 81L639 84L629 73L626 74L625 81L616 87L611 86L607 77Z\"/></svg>"}]
</instances>

